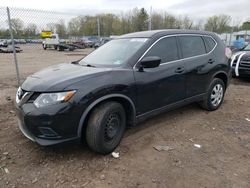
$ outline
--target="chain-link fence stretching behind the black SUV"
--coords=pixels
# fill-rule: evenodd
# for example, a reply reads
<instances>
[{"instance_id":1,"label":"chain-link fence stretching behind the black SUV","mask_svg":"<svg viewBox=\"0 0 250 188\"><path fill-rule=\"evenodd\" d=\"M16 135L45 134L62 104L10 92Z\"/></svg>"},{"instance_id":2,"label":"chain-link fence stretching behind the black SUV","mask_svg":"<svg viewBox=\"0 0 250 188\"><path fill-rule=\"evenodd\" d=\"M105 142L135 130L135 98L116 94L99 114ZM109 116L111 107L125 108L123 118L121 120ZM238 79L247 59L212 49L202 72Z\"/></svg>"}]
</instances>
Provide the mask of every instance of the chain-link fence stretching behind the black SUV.
<instances>
[{"instance_id":1,"label":"chain-link fence stretching behind the black SUV","mask_svg":"<svg viewBox=\"0 0 250 188\"><path fill-rule=\"evenodd\" d=\"M78 60L93 47L124 33L204 29L204 24L195 23L188 16L151 12L135 8L121 14L92 15L82 11L62 13L0 7L0 80L16 82L17 78L20 85L29 74L49 65ZM239 36L249 41L247 32ZM222 39L231 45L237 39L235 36L226 34Z\"/></svg>"}]
</instances>

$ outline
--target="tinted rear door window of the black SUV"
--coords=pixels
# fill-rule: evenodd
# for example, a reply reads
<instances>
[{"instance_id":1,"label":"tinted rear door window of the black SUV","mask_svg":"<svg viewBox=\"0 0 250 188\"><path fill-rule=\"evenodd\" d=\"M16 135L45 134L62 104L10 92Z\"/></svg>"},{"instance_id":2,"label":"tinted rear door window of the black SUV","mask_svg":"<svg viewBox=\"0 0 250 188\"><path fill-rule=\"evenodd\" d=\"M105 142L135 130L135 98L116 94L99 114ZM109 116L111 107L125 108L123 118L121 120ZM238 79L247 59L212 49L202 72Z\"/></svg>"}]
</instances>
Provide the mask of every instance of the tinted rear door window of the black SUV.
<instances>
[{"instance_id":1,"label":"tinted rear door window of the black SUV","mask_svg":"<svg viewBox=\"0 0 250 188\"><path fill-rule=\"evenodd\" d=\"M183 58L206 53L205 45L200 36L180 36Z\"/></svg>"}]
</instances>

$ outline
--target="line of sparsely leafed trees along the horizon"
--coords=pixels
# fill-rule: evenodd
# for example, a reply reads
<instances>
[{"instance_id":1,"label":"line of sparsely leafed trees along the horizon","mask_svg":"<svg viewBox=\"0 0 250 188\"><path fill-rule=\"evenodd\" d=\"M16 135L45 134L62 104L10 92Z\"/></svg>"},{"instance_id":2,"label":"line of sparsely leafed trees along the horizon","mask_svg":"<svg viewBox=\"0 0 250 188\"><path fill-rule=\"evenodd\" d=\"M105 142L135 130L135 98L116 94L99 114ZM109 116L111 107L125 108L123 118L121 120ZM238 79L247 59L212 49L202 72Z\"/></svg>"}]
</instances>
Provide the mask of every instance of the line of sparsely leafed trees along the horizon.
<instances>
[{"instance_id":1,"label":"line of sparsely leafed trees along the horizon","mask_svg":"<svg viewBox=\"0 0 250 188\"><path fill-rule=\"evenodd\" d=\"M56 23L48 23L39 27L34 23L25 25L20 18L12 18L11 25L16 38L39 38L41 30L53 31L58 33L61 38L98 35L98 22L101 36L145 31L149 29L149 22L151 22L152 30L194 29L213 31L220 34L250 29L250 21L246 21L242 25L230 26L231 19L228 15L214 15L204 21L194 22L188 16L175 16L167 12L153 12L150 16L146 9L134 8L121 15L105 13L95 16L77 16L68 23L61 19ZM8 29L0 29L0 38L8 37Z\"/></svg>"}]
</instances>

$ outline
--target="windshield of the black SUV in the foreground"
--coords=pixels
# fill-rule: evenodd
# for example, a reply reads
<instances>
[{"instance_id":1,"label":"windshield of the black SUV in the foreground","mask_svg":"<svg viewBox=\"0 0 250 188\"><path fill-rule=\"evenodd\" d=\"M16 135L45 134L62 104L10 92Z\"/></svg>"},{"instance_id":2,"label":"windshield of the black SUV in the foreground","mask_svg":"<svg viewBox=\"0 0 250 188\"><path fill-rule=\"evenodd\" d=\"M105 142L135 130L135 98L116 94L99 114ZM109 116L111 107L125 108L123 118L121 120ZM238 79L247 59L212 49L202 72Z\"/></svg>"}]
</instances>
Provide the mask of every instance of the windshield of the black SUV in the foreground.
<instances>
[{"instance_id":1,"label":"windshield of the black SUV in the foreground","mask_svg":"<svg viewBox=\"0 0 250 188\"><path fill-rule=\"evenodd\" d=\"M83 58L80 65L121 65L131 58L146 38L115 39Z\"/></svg>"}]
</instances>

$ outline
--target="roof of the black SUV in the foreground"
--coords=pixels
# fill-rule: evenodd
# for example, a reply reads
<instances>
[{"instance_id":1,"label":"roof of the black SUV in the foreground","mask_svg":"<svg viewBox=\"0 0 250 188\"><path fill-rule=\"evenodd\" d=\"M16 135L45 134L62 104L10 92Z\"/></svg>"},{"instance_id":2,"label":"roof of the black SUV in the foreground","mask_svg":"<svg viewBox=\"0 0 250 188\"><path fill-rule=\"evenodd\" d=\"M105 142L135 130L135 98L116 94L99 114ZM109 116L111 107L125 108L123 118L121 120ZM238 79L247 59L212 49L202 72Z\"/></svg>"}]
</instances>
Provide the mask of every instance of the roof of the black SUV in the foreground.
<instances>
[{"instance_id":1,"label":"roof of the black SUV in the foreground","mask_svg":"<svg viewBox=\"0 0 250 188\"><path fill-rule=\"evenodd\" d=\"M152 38L157 36L164 35L174 35L174 34L199 34L199 35L212 35L215 34L207 31L198 31L198 30L188 30L188 29L165 29L165 30L151 30L151 31L141 31L135 33L128 33L121 35L118 38Z\"/></svg>"}]
</instances>

